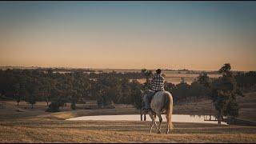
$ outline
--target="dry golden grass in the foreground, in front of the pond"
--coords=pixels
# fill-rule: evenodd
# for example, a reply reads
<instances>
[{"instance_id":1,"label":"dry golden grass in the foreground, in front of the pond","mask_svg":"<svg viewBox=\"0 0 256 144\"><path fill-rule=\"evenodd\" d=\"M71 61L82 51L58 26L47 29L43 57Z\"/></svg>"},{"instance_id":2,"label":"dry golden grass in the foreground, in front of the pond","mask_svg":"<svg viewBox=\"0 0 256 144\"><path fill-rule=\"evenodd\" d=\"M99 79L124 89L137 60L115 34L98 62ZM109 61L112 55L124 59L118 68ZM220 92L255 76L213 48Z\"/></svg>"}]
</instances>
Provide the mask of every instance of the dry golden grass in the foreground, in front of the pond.
<instances>
[{"instance_id":1,"label":"dry golden grass in the foreground, in front of the pond","mask_svg":"<svg viewBox=\"0 0 256 144\"><path fill-rule=\"evenodd\" d=\"M256 142L252 126L174 122L170 134L150 134L149 125L126 121L0 122L0 142Z\"/></svg>"}]
</instances>

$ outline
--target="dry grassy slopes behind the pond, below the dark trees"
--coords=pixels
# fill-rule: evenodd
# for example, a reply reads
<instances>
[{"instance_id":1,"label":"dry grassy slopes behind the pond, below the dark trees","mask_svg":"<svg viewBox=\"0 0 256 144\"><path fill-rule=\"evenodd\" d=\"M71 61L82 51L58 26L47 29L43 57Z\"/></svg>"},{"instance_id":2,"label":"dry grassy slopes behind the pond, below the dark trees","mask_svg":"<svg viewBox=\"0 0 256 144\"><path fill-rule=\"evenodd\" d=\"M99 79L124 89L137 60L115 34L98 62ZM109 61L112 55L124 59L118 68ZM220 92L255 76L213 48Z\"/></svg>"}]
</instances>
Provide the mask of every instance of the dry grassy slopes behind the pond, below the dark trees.
<instances>
[{"instance_id":1,"label":"dry grassy slopes behind the pond, below the dark trees","mask_svg":"<svg viewBox=\"0 0 256 144\"><path fill-rule=\"evenodd\" d=\"M245 95L245 97L238 97L239 118L256 122L256 92ZM78 110L70 110L70 104L67 104L58 113L45 112L46 102L37 102L34 109L30 109L26 102L20 102L19 106L16 106L16 104L14 101L0 101L0 120L17 120L20 118L63 120L86 115L139 114L139 110L126 105L116 105L115 109L84 110L86 105L92 105L90 102L86 105L78 104ZM174 105L174 114L203 115L210 113L216 113L210 99L200 99L197 102L181 102Z\"/></svg>"}]
</instances>

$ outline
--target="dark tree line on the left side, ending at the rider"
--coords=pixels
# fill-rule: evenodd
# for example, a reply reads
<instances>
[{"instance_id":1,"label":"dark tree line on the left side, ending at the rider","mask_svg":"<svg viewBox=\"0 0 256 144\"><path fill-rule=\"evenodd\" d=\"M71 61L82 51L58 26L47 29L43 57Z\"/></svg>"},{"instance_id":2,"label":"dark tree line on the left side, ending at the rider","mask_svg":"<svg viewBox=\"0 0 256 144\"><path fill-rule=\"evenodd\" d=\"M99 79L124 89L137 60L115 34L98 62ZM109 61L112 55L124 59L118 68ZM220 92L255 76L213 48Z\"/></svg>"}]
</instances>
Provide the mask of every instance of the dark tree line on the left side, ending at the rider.
<instances>
[{"instance_id":1,"label":"dark tree line on the left side, ending at the rider","mask_svg":"<svg viewBox=\"0 0 256 144\"><path fill-rule=\"evenodd\" d=\"M52 69L0 70L0 94L15 99L17 104L24 100L31 108L38 101L46 101L49 111L58 111L67 102L74 110L77 102L86 100L97 100L98 106L108 106L112 102L136 105L142 85L135 80L130 82L133 75L116 72L87 74L82 71L60 74ZM133 78L140 77L142 74Z\"/></svg>"}]
</instances>

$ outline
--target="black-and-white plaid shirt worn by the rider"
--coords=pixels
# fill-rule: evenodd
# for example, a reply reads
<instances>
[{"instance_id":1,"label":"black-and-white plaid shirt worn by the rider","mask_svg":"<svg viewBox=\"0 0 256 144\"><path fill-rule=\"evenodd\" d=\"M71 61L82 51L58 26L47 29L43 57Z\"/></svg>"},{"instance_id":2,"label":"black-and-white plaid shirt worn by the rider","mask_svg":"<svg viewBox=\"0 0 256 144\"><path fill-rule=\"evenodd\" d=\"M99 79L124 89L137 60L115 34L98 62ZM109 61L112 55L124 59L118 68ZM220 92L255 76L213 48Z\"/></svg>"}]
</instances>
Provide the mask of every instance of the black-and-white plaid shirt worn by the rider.
<instances>
[{"instance_id":1,"label":"black-and-white plaid shirt worn by the rider","mask_svg":"<svg viewBox=\"0 0 256 144\"><path fill-rule=\"evenodd\" d=\"M161 74L154 74L151 80L151 89L154 91L164 90L164 83L165 78L163 78Z\"/></svg>"}]
</instances>

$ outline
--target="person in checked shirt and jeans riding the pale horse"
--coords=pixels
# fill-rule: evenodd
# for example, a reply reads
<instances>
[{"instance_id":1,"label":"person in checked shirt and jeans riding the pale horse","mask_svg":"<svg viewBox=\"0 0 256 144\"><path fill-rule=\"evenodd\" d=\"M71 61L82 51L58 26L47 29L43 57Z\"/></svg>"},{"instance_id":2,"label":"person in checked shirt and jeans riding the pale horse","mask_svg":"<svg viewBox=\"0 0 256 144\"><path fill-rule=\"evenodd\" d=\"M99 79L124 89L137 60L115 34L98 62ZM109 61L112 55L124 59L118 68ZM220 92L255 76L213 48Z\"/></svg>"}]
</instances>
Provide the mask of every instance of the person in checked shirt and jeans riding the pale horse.
<instances>
[{"instance_id":1,"label":"person in checked shirt and jeans riding the pale horse","mask_svg":"<svg viewBox=\"0 0 256 144\"><path fill-rule=\"evenodd\" d=\"M161 70L156 70L156 74L154 74L152 80L151 80L151 90L153 90L152 93L149 93L146 95L145 99L145 106L142 110L151 110L150 108L150 100L153 98L154 94L160 90L164 90L164 83L165 79L162 76Z\"/></svg>"}]
</instances>

